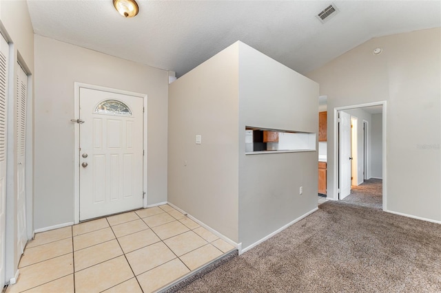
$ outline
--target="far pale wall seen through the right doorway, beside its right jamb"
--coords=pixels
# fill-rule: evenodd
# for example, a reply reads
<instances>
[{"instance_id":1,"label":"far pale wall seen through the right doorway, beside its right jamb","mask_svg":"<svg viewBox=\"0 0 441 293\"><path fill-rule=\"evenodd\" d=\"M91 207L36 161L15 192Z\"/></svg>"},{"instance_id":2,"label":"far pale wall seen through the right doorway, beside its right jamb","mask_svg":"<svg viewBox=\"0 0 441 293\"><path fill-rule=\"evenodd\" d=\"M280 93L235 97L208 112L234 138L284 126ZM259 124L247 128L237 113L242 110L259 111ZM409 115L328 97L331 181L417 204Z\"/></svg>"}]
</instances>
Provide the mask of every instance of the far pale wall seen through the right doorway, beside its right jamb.
<instances>
[{"instance_id":1,"label":"far pale wall seen through the right doorway, beside its right jamb","mask_svg":"<svg viewBox=\"0 0 441 293\"><path fill-rule=\"evenodd\" d=\"M371 171L369 177L382 178L382 114L372 114Z\"/></svg>"}]
</instances>

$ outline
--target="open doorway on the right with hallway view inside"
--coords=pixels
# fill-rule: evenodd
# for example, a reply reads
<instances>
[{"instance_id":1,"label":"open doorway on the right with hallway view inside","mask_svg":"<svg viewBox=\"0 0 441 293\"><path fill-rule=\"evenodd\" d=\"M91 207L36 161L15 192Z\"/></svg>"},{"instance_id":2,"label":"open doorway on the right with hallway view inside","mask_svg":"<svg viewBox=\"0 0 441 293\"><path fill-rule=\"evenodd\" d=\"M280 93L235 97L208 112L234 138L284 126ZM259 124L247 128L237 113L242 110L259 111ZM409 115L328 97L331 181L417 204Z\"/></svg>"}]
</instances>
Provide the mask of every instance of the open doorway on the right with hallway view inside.
<instances>
[{"instance_id":1,"label":"open doorway on the right with hallway view inside","mask_svg":"<svg viewBox=\"0 0 441 293\"><path fill-rule=\"evenodd\" d=\"M385 102L336 108L336 199L386 208Z\"/></svg>"}]
</instances>

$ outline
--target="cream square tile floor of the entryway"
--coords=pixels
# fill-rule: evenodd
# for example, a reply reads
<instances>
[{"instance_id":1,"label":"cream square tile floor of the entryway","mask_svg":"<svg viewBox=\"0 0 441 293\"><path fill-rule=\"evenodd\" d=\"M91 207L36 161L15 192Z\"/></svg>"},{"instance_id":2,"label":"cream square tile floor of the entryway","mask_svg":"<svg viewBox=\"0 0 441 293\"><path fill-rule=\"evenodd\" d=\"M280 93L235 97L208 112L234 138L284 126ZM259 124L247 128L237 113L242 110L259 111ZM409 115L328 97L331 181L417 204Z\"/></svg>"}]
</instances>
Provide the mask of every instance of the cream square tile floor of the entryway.
<instances>
[{"instance_id":1,"label":"cream square tile floor of the entryway","mask_svg":"<svg viewBox=\"0 0 441 293\"><path fill-rule=\"evenodd\" d=\"M41 232L14 292L154 292L234 250L168 205Z\"/></svg>"}]
</instances>

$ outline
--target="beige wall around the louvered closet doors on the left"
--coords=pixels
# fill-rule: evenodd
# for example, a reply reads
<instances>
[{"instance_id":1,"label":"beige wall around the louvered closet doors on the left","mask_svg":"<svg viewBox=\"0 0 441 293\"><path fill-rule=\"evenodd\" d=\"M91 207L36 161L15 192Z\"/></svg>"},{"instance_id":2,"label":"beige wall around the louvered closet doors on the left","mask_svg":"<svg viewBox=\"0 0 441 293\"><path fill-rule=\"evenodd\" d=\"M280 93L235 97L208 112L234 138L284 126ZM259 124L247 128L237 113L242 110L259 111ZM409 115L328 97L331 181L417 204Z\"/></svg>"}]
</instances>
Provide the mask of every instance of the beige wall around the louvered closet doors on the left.
<instances>
[{"instance_id":1,"label":"beige wall around the louvered closet doors on the left","mask_svg":"<svg viewBox=\"0 0 441 293\"><path fill-rule=\"evenodd\" d=\"M17 76L20 61L30 76L28 80L28 123L27 149L26 149L26 201L27 201L27 226L32 231L32 97L34 94L34 32L28 12L26 1L0 1L0 30L12 47L10 69L13 70L11 77ZM11 57L11 56L10 56ZM12 82L12 85L14 83ZM17 162L16 162L16 133L14 132L15 121L13 101L17 95L16 87L10 89L10 102L8 105L8 186L6 199L6 281L9 281L17 270L19 252L16 248L17 239ZM30 235L31 233L28 233Z\"/></svg>"}]
</instances>

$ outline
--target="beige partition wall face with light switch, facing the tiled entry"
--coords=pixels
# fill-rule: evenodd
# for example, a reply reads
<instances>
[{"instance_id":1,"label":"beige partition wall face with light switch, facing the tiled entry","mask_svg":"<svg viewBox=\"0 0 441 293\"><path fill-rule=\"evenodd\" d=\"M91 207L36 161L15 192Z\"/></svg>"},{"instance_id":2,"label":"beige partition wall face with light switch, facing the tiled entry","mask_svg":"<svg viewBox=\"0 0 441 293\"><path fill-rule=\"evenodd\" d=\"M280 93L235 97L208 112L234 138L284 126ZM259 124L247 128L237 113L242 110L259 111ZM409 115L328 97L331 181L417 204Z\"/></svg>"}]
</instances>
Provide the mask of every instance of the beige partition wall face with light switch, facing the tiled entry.
<instances>
[{"instance_id":1,"label":"beige partition wall face with light switch, facing the tiled entry","mask_svg":"<svg viewBox=\"0 0 441 293\"><path fill-rule=\"evenodd\" d=\"M237 43L170 85L168 117L168 201L237 242Z\"/></svg>"}]
</instances>

